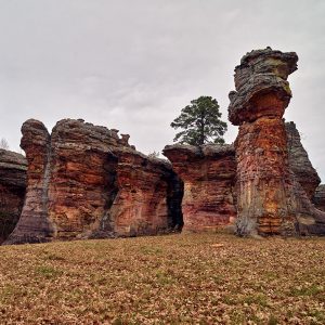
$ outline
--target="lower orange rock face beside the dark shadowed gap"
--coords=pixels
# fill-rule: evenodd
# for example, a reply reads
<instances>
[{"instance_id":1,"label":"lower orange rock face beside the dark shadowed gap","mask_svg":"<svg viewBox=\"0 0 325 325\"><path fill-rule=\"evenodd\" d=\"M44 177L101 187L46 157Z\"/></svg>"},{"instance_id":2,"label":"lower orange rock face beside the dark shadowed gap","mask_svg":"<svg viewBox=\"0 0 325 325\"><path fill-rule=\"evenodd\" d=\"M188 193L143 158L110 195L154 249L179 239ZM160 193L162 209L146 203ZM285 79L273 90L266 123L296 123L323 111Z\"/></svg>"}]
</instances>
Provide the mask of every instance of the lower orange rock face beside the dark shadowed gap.
<instances>
[{"instance_id":1,"label":"lower orange rock face beside the dark shadowed gap","mask_svg":"<svg viewBox=\"0 0 325 325\"><path fill-rule=\"evenodd\" d=\"M180 229L182 186L170 164L129 147L115 154L119 190L110 209L115 232L134 236Z\"/></svg>"}]
</instances>

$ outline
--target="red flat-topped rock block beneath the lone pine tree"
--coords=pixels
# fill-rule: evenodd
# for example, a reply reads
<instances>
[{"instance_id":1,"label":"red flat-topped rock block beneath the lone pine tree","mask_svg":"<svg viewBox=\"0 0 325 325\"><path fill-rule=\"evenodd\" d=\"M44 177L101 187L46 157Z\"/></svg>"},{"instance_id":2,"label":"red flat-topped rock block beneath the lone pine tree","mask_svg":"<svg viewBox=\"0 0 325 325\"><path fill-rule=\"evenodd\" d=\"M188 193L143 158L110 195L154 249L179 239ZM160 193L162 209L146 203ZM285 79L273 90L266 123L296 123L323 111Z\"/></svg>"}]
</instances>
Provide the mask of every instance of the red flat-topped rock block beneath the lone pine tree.
<instances>
[{"instance_id":1,"label":"red flat-topped rock block beneath the lone pine tree","mask_svg":"<svg viewBox=\"0 0 325 325\"><path fill-rule=\"evenodd\" d=\"M184 182L185 231L205 231L232 223L235 153L232 145L167 145L164 155Z\"/></svg>"}]
</instances>

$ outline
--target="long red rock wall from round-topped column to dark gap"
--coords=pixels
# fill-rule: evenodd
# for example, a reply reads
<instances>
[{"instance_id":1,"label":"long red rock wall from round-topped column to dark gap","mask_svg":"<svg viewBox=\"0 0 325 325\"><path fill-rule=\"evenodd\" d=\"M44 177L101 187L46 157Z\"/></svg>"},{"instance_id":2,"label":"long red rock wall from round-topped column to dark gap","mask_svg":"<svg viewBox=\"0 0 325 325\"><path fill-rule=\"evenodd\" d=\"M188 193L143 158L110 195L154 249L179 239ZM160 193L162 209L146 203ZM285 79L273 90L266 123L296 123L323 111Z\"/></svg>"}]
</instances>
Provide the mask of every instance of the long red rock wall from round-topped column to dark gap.
<instances>
[{"instance_id":1,"label":"long red rock wall from round-topped column to dark gap","mask_svg":"<svg viewBox=\"0 0 325 325\"><path fill-rule=\"evenodd\" d=\"M51 135L30 119L22 132L27 194L6 244L153 234L181 218L171 166L138 153L128 134L73 119Z\"/></svg>"}]
</instances>

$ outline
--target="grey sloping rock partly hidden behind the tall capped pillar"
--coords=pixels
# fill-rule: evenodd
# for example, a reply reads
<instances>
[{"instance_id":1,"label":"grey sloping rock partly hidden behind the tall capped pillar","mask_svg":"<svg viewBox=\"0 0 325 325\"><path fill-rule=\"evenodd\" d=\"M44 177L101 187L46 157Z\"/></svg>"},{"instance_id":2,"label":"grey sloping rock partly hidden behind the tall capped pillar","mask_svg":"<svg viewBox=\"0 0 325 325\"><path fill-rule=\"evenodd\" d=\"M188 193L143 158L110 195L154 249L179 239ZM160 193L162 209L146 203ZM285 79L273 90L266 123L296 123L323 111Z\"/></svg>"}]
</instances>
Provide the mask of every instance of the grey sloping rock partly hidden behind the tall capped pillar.
<instances>
[{"instance_id":1,"label":"grey sloping rock partly hidden behind the tall capped pillar","mask_svg":"<svg viewBox=\"0 0 325 325\"><path fill-rule=\"evenodd\" d=\"M290 168L294 171L297 181L301 184L306 194L311 199L316 187L321 183L321 179L309 160L308 153L301 144L300 134L296 125L291 121L286 122L285 127Z\"/></svg>"}]
</instances>

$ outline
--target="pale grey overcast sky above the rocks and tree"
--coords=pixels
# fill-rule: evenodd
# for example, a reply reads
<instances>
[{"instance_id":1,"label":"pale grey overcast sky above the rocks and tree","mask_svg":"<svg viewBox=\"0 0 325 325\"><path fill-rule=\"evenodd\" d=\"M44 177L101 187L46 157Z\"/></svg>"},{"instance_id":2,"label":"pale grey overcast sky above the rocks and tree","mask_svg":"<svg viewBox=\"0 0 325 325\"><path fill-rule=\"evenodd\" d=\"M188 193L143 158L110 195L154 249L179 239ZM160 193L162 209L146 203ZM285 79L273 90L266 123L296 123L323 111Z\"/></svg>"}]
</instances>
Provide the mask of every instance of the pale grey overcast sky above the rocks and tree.
<instances>
[{"instance_id":1,"label":"pale grey overcast sky above the rocks and tree","mask_svg":"<svg viewBox=\"0 0 325 325\"><path fill-rule=\"evenodd\" d=\"M26 119L70 117L161 151L193 99L216 98L226 120L234 67L268 46L299 55L285 117L325 181L323 0L0 0L0 138L18 151Z\"/></svg>"}]
</instances>

